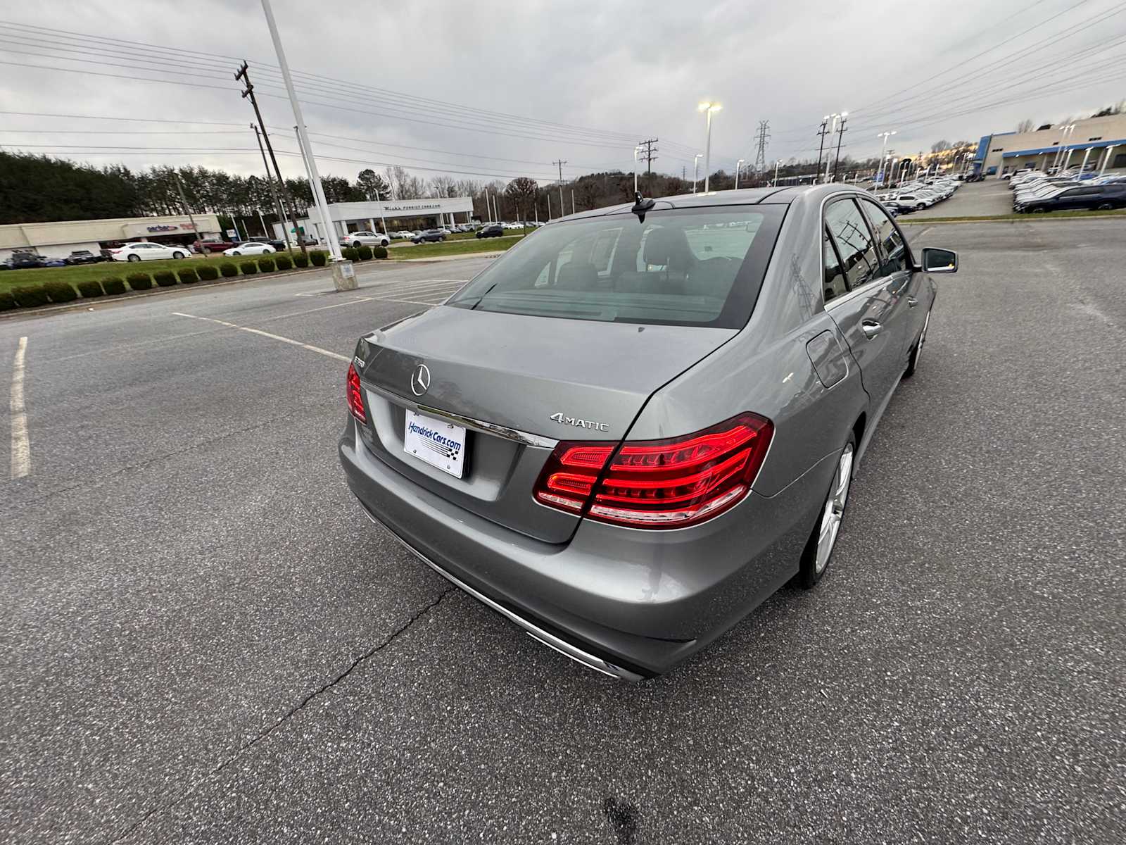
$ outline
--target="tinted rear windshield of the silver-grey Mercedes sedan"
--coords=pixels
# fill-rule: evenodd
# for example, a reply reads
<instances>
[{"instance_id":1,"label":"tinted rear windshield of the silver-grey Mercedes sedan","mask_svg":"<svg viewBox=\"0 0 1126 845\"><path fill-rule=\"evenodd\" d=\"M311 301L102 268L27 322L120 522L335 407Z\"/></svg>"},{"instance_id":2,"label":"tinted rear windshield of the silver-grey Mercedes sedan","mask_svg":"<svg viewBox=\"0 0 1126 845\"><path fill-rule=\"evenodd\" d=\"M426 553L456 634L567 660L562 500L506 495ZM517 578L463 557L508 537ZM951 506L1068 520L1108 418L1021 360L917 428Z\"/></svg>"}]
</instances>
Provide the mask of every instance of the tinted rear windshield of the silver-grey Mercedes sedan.
<instances>
[{"instance_id":1,"label":"tinted rear windshield of the silver-grey Mercedes sedan","mask_svg":"<svg viewBox=\"0 0 1126 845\"><path fill-rule=\"evenodd\" d=\"M742 328L785 206L653 210L553 223L447 303L602 322Z\"/></svg>"}]
</instances>

